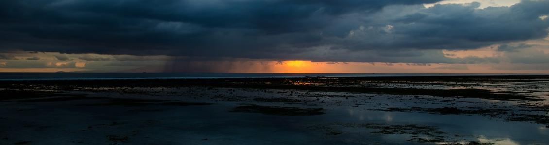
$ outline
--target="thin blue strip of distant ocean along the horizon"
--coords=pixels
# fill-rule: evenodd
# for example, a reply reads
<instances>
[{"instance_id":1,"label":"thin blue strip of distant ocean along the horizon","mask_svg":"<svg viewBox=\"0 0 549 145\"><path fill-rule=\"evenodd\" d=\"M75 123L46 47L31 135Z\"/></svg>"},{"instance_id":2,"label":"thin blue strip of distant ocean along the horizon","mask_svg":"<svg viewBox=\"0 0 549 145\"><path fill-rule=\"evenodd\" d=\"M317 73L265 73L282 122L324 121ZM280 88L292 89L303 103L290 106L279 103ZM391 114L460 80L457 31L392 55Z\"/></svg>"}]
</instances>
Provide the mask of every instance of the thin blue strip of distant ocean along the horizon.
<instances>
[{"instance_id":1,"label":"thin blue strip of distant ocean along the horizon","mask_svg":"<svg viewBox=\"0 0 549 145\"><path fill-rule=\"evenodd\" d=\"M547 75L547 74L459 74L459 73L0 73L0 80L398 77L398 76L506 76L506 75Z\"/></svg>"}]
</instances>

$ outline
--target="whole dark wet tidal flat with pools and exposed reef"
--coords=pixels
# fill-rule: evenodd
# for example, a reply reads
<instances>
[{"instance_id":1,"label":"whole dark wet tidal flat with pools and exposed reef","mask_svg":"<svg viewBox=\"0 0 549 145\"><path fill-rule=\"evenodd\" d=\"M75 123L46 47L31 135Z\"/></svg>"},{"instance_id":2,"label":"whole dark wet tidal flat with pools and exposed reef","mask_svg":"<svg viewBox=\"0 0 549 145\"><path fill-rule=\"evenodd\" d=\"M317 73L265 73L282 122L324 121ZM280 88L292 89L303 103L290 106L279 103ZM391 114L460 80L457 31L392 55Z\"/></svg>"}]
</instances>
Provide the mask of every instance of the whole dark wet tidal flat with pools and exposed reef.
<instances>
[{"instance_id":1,"label":"whole dark wet tidal flat with pools and exposed reef","mask_svg":"<svg viewBox=\"0 0 549 145\"><path fill-rule=\"evenodd\" d=\"M549 76L0 81L0 144L549 144Z\"/></svg>"}]
</instances>

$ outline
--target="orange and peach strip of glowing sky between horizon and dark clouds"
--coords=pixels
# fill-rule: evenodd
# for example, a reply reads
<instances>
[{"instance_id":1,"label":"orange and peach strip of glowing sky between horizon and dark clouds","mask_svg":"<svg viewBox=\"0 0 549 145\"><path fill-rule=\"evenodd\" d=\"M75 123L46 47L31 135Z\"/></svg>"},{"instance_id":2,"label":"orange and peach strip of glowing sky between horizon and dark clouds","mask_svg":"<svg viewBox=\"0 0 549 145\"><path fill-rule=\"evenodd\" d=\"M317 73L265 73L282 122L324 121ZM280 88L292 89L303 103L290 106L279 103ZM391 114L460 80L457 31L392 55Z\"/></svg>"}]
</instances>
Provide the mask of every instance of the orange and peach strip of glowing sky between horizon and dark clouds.
<instances>
[{"instance_id":1,"label":"orange and peach strip of glowing sky between horizon and dark clouds","mask_svg":"<svg viewBox=\"0 0 549 145\"><path fill-rule=\"evenodd\" d=\"M9 62L0 62L0 72L124 72L124 69L94 71L93 69L86 68L88 65L85 62L76 62L73 68L64 68L68 67L66 64L68 63L48 63L48 66L58 68L2 68L2 66L9 65ZM312 62L303 60L197 62L195 64L195 66L211 68L230 66L210 71L228 73L549 73L549 70L546 69L495 69L494 67L498 67L497 65L507 66L509 64ZM133 69L133 71L127 72L166 72L164 71L166 70L165 67L147 68L137 66L135 68L143 69Z\"/></svg>"}]
</instances>

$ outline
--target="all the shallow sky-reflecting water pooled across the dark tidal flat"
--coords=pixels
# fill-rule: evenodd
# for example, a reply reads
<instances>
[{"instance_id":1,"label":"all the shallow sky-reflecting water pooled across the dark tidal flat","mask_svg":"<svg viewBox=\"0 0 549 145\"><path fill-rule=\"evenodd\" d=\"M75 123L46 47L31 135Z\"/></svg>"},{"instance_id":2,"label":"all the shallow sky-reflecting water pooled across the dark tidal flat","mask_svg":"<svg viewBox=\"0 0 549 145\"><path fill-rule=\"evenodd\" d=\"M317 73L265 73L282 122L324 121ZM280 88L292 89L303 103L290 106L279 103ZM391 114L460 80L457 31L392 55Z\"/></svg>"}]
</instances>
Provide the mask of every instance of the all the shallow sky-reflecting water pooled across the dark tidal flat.
<instances>
[{"instance_id":1,"label":"all the shallow sky-reflecting water pooled across the dark tidal flat","mask_svg":"<svg viewBox=\"0 0 549 145\"><path fill-rule=\"evenodd\" d=\"M544 80L545 81L545 80ZM531 85L547 86L547 81L537 81L530 84L522 83L503 83L503 84L480 84L474 86L476 89L488 89L493 91L529 91L528 95L536 94L538 90L547 93L548 90L531 88ZM546 84L543 84L546 83ZM386 84L390 86L391 83ZM457 89L467 86L456 86L452 88L449 84L399 84L406 87L429 88L429 89ZM399 86L399 87L402 87ZM384 86L385 87L385 86ZM393 86L391 86L393 87ZM108 88L105 88L108 89ZM164 92L165 88L155 88L148 91ZM170 92L169 88L166 88ZM181 89L181 88L178 88ZM222 90L222 89L220 89ZM183 91L183 90L180 90ZM217 91L216 91L217 92ZM341 127L338 131L344 132L341 135L326 135L326 132L311 130L310 127L317 124L333 123L355 123L355 124L386 124L402 125L417 124L439 127L439 130L446 132L447 135L459 135L458 139L479 142L492 142L496 144L548 144L549 128L545 125L527 123L524 121L506 121L503 118L490 118L486 115L478 114L429 114L417 112L385 112L373 111L371 109L384 109L390 107L399 108L441 108L457 107L460 109L493 109L505 108L512 110L512 113L534 113L549 116L549 112L531 112L521 111L524 108L517 105L523 103L536 103L533 101L501 101L485 100L480 98L455 98L455 97L435 97L435 96L411 96L411 95L379 95L379 94L360 94L347 92L311 92L295 90L295 95L287 96L287 90L236 90L230 91L231 94L242 96L237 97L245 100L245 96L262 97L296 97L306 104L287 104L273 102L231 102L212 106L191 106L174 107L163 109L159 112L127 113L130 109L127 107L51 107L38 109L42 113L23 114L25 112L9 112L7 109L0 110L0 114L8 117L17 117L19 120L32 120L37 124L44 126L56 126L58 128L51 130L28 131L19 129L13 124L23 124L17 121L10 122L9 119L0 119L0 128L13 127L14 136L30 136L55 138L55 136L91 136L90 138L104 138L104 136L89 135L89 132L71 132L68 134L63 130L75 130L70 128L68 123L78 122L87 127L89 124L111 123L113 120L120 121L122 126L116 126L116 129L105 129L96 131L99 135L111 134L111 132L124 132L136 129L143 130L143 135L152 138L161 138L165 140L170 138L166 144L203 144L203 138L209 138L211 144L357 144L365 142L384 142L390 144L416 144L417 142L406 141L409 135L386 135L371 134L376 129L365 127ZM211 93L211 94L209 94ZM219 91L217 93L226 93ZM309 93L309 96L303 97L299 94ZM206 91L203 94L217 95L213 91ZM136 95L132 95L135 98ZM148 96L150 97L150 96ZM166 97L166 96L164 96ZM180 99L176 96L173 99ZM191 97L189 97L191 98ZM318 99L318 100L317 100ZM204 100L193 98L194 102L206 102L210 100L205 97ZM316 103L314 101L317 101ZM322 103L318 103L322 101ZM547 101L547 100L546 100ZM312 103L311 103L312 102ZM89 102L87 102L89 103ZM217 102L216 102L217 103ZM312 116L278 116L265 115L260 113L236 113L229 112L233 107L241 103L254 103L263 106L285 106L285 107L310 107L324 108L326 114ZM537 102L537 105L541 103ZM311 105L311 106L307 106ZM18 106L18 105L13 105ZM33 106L29 106L33 107ZM154 110L154 108L153 108ZM76 120L76 121L75 121ZM159 123L155 125L143 124L148 120L156 120ZM78 125L78 124L76 124ZM74 127L74 125L72 125ZM122 130L122 131L121 131ZM96 133L97 133L96 132ZM176 139L173 139L176 138ZM147 139L139 140L132 138L136 142L159 144L150 142ZM2 142L0 142L1 144ZM164 142L163 142L164 143ZM62 143L59 143L62 144ZM98 143L101 144L101 143ZM419 144L419 143L418 143Z\"/></svg>"}]
</instances>

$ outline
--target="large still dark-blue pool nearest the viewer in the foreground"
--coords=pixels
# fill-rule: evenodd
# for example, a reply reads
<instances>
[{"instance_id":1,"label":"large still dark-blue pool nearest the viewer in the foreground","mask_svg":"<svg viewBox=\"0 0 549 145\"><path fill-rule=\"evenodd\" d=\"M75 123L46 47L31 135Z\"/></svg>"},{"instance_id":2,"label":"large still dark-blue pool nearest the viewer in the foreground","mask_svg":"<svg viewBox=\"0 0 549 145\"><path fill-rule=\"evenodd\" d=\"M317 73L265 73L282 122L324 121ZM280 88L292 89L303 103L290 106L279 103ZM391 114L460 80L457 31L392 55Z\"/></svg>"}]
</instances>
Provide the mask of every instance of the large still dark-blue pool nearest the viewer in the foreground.
<instances>
[{"instance_id":1,"label":"large still dark-blue pool nearest the viewer in the foreground","mask_svg":"<svg viewBox=\"0 0 549 145\"><path fill-rule=\"evenodd\" d=\"M40 110L44 113L33 115L3 110L0 113L12 118L17 117L20 120L56 127L29 131L18 128L23 125L14 125L26 124L25 121L10 122L9 119L0 120L2 123L0 127L11 125L10 128L20 130L20 132L13 132L13 136L37 137L35 140L44 141L58 136L104 138L100 135L125 134L132 130L142 130L138 136L132 136L133 142L203 144L203 138L209 138L208 143L211 144L357 144L360 142L419 144L406 141L408 135L371 134L370 132L378 130L363 127L339 129L338 131L344 132L341 135L326 135L326 132L310 128L317 124L332 123L417 124L437 126L446 134L466 136L463 138L469 141L497 144L549 143L548 130L545 126L489 119L480 115L383 112L345 106L330 108L326 110L326 114L312 116L228 112L235 105L237 104L175 107L160 112L142 113L127 113L127 109L132 109L131 107L111 106L44 107ZM155 107L148 109L155 109ZM81 130L90 124L110 124L113 120L121 125L94 127L94 134L86 131L66 131ZM78 124L68 124L74 122ZM63 142L52 141L51 143Z\"/></svg>"}]
</instances>

